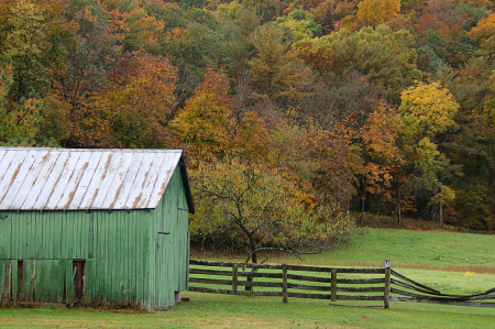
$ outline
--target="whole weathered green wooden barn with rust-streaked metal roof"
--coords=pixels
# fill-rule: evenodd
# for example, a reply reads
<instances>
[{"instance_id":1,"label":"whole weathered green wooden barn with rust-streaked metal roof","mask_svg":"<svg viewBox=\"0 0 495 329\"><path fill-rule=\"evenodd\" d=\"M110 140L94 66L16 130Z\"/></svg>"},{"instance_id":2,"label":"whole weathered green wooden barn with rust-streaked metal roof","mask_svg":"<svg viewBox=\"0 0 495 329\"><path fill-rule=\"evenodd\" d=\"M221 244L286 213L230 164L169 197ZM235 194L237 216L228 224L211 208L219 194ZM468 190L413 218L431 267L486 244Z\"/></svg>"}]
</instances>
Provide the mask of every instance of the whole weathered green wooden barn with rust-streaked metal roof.
<instances>
[{"instance_id":1,"label":"whole weathered green wooden barn with rust-streaked metal roof","mask_svg":"<svg viewBox=\"0 0 495 329\"><path fill-rule=\"evenodd\" d=\"M0 300L156 309L188 284L182 151L0 147Z\"/></svg>"}]
</instances>

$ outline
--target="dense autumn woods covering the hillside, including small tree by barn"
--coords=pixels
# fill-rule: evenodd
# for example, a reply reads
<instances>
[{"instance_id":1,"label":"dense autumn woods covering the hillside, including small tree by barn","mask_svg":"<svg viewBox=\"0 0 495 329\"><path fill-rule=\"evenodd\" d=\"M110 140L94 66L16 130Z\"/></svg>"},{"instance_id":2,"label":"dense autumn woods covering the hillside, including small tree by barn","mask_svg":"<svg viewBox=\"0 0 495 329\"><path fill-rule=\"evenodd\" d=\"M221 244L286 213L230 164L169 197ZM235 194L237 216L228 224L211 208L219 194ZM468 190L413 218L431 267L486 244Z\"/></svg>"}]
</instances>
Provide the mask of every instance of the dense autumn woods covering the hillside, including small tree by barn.
<instances>
[{"instance_id":1,"label":"dense autumn woods covering the hillside, including small tree by barn","mask_svg":"<svg viewBox=\"0 0 495 329\"><path fill-rule=\"evenodd\" d=\"M0 142L184 149L191 231L253 256L326 248L348 210L493 230L494 10L0 0Z\"/></svg>"}]
</instances>

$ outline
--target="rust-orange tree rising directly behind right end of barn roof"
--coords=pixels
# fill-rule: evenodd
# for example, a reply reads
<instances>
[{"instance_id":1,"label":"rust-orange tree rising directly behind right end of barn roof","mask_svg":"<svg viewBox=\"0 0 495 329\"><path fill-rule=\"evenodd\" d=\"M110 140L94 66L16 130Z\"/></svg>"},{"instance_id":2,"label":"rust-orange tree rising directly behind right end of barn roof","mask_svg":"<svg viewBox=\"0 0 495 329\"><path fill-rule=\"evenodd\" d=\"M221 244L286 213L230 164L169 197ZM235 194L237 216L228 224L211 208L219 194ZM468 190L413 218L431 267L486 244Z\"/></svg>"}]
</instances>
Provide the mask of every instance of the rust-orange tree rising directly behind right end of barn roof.
<instances>
[{"instance_id":1,"label":"rust-orange tree rising directly behind right end of barn roof","mask_svg":"<svg viewBox=\"0 0 495 329\"><path fill-rule=\"evenodd\" d=\"M174 118L177 69L151 55L136 58L129 81L101 97L112 144L125 149L174 147L168 122Z\"/></svg>"}]
</instances>

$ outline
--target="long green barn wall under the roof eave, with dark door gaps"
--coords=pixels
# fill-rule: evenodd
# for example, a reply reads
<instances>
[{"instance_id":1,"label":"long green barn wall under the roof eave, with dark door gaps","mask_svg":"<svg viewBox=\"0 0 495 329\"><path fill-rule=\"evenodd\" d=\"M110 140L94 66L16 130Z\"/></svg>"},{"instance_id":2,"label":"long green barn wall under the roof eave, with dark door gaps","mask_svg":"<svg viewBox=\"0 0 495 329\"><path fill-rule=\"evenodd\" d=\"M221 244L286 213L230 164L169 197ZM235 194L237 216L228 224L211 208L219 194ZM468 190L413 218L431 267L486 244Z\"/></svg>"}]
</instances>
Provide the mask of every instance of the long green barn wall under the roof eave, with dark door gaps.
<instances>
[{"instance_id":1,"label":"long green barn wall under the roof eave, with dark door gaps","mask_svg":"<svg viewBox=\"0 0 495 329\"><path fill-rule=\"evenodd\" d=\"M16 292L22 261L20 300L72 303L73 261L84 260L87 301L146 305L148 222L154 212L1 212L0 268L9 271L0 270L0 299L16 299L10 292Z\"/></svg>"}]
</instances>

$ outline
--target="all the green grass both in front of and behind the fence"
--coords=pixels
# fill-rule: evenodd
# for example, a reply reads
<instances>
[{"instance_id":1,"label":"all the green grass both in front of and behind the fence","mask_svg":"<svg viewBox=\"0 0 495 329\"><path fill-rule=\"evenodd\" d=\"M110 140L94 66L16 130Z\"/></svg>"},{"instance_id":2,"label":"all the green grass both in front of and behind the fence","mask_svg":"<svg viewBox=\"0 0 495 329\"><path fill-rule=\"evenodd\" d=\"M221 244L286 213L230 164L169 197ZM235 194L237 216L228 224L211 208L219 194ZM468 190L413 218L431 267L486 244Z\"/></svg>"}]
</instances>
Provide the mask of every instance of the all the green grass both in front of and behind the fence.
<instances>
[{"instance_id":1,"label":"all the green grass both in front of and behind the fence","mask_svg":"<svg viewBox=\"0 0 495 329\"><path fill-rule=\"evenodd\" d=\"M270 254L267 263L383 266L444 293L474 294L495 286L495 237L451 232L358 229L349 244L304 262ZM196 252L193 259L243 261L243 255ZM472 276L466 276L466 272ZM474 273L473 273L474 272ZM493 328L495 309L431 304L245 297L183 293L190 301L166 311L1 309L1 328ZM344 304L344 303L339 303Z\"/></svg>"}]
</instances>

